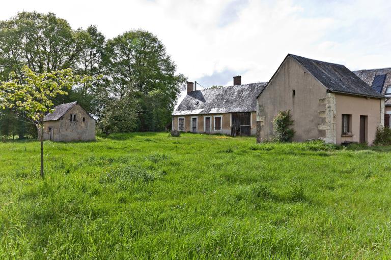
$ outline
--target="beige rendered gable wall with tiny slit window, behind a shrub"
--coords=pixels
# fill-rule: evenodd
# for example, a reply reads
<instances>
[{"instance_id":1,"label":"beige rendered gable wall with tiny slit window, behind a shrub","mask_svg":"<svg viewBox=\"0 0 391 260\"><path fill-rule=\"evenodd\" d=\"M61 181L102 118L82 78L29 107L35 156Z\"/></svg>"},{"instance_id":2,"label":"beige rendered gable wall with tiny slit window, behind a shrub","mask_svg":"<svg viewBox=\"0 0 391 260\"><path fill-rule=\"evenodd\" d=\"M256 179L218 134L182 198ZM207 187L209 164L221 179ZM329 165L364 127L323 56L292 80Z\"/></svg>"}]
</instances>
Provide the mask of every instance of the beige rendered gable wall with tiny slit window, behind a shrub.
<instances>
[{"instance_id":1,"label":"beige rendered gable wall with tiny slit window, behind a shrub","mask_svg":"<svg viewBox=\"0 0 391 260\"><path fill-rule=\"evenodd\" d=\"M291 111L293 141L326 138L326 129L318 128L326 121L320 116L326 110L321 102L326 94L326 88L315 77L288 57L257 99L257 141L273 136L272 120L281 110Z\"/></svg>"}]
</instances>

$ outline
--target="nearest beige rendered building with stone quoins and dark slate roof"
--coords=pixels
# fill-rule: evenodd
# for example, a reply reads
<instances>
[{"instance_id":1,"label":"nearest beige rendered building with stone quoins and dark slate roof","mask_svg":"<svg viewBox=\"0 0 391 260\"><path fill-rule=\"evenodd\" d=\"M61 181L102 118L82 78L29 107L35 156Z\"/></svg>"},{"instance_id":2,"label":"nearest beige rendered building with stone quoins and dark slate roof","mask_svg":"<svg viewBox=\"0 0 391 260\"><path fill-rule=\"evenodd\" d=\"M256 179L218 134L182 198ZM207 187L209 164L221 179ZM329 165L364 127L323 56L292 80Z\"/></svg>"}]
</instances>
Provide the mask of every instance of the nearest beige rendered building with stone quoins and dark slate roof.
<instances>
[{"instance_id":1,"label":"nearest beige rendered building with stone quoins and dark slate roof","mask_svg":"<svg viewBox=\"0 0 391 260\"><path fill-rule=\"evenodd\" d=\"M288 54L257 97L257 142L273 135L278 111L290 110L293 141L372 144L384 100L343 65Z\"/></svg>"}]
</instances>

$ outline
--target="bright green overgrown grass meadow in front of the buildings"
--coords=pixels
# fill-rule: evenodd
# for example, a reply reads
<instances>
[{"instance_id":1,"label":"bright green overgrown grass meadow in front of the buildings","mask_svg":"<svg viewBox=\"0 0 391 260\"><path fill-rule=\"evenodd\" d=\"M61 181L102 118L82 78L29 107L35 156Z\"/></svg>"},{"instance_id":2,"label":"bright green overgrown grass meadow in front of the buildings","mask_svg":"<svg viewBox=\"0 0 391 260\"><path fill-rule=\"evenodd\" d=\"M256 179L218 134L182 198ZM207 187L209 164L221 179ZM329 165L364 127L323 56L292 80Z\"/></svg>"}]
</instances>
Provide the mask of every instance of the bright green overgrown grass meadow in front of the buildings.
<instances>
[{"instance_id":1,"label":"bright green overgrown grass meadow in front of the buildings","mask_svg":"<svg viewBox=\"0 0 391 260\"><path fill-rule=\"evenodd\" d=\"M391 154L117 134L0 143L1 259L390 259Z\"/></svg>"}]
</instances>

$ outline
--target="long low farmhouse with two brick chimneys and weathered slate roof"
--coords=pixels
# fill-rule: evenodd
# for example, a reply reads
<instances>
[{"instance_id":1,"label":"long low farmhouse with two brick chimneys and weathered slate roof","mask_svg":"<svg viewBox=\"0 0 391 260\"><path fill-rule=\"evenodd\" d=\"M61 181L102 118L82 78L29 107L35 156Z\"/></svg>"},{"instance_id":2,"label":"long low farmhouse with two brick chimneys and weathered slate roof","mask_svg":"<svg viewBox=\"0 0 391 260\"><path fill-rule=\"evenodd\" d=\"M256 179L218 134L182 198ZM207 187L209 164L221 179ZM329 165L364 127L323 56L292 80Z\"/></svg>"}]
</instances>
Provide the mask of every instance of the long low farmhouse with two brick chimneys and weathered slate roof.
<instances>
[{"instance_id":1,"label":"long low farmhouse with two brick chimneys and weathered slate roof","mask_svg":"<svg viewBox=\"0 0 391 260\"><path fill-rule=\"evenodd\" d=\"M256 96L264 83L241 84L241 76L234 77L234 85L194 90L187 82L187 95L173 113L172 129L193 133L221 133L232 136L255 135Z\"/></svg>"}]
</instances>

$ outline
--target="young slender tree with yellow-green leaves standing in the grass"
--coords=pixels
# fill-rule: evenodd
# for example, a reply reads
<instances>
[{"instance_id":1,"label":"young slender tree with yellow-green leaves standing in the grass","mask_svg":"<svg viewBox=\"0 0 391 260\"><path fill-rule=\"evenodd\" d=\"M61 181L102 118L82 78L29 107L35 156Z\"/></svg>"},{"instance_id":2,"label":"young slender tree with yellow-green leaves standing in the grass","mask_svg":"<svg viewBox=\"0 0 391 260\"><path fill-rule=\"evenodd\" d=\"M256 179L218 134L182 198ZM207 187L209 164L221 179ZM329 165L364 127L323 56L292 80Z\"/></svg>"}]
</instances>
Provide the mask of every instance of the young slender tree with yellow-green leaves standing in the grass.
<instances>
[{"instance_id":1,"label":"young slender tree with yellow-green leaves standing in the grass","mask_svg":"<svg viewBox=\"0 0 391 260\"><path fill-rule=\"evenodd\" d=\"M71 69L45 73L33 72L24 66L21 79L11 73L11 79L0 85L0 107L20 112L27 120L34 123L40 132L41 141L41 177L43 172L43 118L53 111L53 99L58 95L67 94L63 89L70 89L79 79Z\"/></svg>"}]
</instances>

